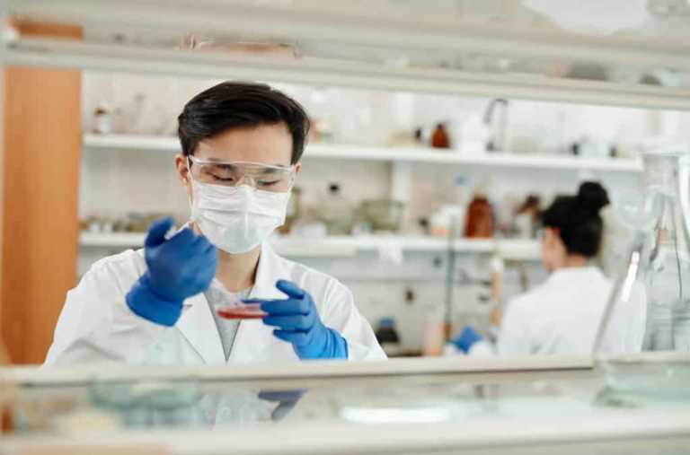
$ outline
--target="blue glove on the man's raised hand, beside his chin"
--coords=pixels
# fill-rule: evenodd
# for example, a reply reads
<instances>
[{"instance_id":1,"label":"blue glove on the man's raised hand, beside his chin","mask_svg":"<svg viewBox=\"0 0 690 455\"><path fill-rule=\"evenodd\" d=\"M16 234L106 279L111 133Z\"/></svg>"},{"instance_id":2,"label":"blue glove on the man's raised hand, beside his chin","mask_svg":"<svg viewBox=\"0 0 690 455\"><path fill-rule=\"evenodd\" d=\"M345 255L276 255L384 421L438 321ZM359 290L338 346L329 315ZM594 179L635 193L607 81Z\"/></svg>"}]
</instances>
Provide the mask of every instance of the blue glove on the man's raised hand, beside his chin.
<instances>
[{"instance_id":1,"label":"blue glove on the man's raised hand, beside his chin","mask_svg":"<svg viewBox=\"0 0 690 455\"><path fill-rule=\"evenodd\" d=\"M184 299L208 289L218 265L216 247L190 228L166 240L172 227L172 218L151 224L144 244L148 270L126 297L131 311L163 326L180 319Z\"/></svg>"}]
</instances>

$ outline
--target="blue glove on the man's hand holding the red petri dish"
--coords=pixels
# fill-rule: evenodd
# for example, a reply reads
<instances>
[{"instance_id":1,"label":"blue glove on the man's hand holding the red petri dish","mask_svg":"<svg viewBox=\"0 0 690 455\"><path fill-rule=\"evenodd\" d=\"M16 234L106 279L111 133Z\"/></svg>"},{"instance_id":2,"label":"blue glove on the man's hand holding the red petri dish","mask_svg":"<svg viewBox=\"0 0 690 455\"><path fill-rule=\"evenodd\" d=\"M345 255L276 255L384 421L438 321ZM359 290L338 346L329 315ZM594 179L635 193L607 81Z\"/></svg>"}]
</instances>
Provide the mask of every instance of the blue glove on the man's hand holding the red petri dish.
<instances>
[{"instance_id":1,"label":"blue glove on the man's hand holding the red petri dish","mask_svg":"<svg viewBox=\"0 0 690 455\"><path fill-rule=\"evenodd\" d=\"M312 296L289 281L280 280L276 287L288 298L244 302L261 302L261 310L268 313L264 324L277 327L273 334L292 343L300 359L347 359L348 342L323 325Z\"/></svg>"}]
</instances>

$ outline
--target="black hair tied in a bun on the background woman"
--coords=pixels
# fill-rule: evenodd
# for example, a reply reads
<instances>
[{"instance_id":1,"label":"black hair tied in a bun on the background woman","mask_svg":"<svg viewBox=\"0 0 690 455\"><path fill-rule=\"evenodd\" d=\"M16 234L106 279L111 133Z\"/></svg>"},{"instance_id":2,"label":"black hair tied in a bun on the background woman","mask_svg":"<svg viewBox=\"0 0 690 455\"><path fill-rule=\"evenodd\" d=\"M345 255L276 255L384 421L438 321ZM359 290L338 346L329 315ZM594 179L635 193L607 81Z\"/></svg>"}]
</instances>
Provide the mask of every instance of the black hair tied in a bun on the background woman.
<instances>
[{"instance_id":1,"label":"black hair tied in a bun on the background woman","mask_svg":"<svg viewBox=\"0 0 690 455\"><path fill-rule=\"evenodd\" d=\"M609 204L606 188L594 181L579 186L577 196L556 197L542 213L544 227L557 229L570 254L597 256L604 232L599 211Z\"/></svg>"}]
</instances>

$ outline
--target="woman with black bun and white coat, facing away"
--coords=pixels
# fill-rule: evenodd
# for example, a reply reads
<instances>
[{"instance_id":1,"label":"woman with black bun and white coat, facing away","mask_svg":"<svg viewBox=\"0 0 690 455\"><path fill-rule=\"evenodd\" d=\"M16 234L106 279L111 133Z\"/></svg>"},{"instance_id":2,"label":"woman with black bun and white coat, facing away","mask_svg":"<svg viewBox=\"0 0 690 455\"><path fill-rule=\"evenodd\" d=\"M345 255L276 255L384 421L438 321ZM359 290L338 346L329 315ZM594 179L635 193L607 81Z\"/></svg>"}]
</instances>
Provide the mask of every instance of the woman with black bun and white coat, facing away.
<instances>
[{"instance_id":1,"label":"woman with black bun and white coat, facing away","mask_svg":"<svg viewBox=\"0 0 690 455\"><path fill-rule=\"evenodd\" d=\"M594 262L604 232L599 212L608 204L606 189L596 182L582 183L576 196L557 197L542 214L542 261L549 278L508 303L496 346L482 341L471 327L453 344L480 355L592 354L613 287ZM618 326L617 346L610 349L641 345L639 324Z\"/></svg>"}]
</instances>

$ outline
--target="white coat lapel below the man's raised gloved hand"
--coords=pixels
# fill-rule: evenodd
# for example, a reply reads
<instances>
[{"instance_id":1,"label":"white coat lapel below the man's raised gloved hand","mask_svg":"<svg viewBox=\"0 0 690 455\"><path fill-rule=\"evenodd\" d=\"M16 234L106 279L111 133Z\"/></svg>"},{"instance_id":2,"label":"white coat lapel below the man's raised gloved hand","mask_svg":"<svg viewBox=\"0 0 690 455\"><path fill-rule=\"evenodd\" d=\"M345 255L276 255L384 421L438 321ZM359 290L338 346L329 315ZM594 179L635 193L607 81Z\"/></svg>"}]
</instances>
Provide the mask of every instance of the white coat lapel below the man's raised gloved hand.
<instances>
[{"instance_id":1,"label":"white coat lapel below the man's raised gloved hand","mask_svg":"<svg viewBox=\"0 0 690 455\"><path fill-rule=\"evenodd\" d=\"M226 363L216 320L203 293L184 301L182 315L176 327L205 363Z\"/></svg>"}]
</instances>

